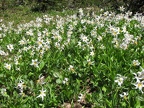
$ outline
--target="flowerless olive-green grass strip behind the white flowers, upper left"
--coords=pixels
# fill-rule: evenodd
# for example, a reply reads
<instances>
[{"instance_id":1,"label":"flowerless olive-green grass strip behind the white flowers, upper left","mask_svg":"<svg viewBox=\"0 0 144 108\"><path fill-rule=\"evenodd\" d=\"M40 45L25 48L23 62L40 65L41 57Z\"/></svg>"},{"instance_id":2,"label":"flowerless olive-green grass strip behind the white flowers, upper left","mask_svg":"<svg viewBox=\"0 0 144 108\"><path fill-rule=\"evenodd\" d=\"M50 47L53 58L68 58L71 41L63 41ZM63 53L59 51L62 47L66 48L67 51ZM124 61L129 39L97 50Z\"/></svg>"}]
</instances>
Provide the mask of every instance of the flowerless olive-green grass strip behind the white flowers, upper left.
<instances>
[{"instance_id":1,"label":"flowerless olive-green grass strip behind the white flowers, upper left","mask_svg":"<svg viewBox=\"0 0 144 108\"><path fill-rule=\"evenodd\" d=\"M47 10L46 12L33 12L31 11L30 6L17 6L7 8L6 10L0 10L0 19L3 19L3 23L14 22L14 25L27 23L32 19L37 17L42 17L45 14L56 16L66 16L71 15L76 10L65 10L65 11L56 11L56 10Z\"/></svg>"}]
</instances>

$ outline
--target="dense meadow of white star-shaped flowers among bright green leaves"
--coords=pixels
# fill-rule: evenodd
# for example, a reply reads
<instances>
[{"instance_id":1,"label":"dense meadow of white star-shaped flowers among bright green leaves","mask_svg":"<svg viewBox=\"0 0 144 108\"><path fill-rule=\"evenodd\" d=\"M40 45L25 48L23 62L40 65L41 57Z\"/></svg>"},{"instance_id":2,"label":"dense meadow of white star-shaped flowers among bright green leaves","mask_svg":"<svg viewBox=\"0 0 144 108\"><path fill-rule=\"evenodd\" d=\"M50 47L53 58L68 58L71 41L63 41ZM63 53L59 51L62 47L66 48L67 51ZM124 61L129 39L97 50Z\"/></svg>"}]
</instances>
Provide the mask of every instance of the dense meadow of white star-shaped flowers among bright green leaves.
<instances>
[{"instance_id":1,"label":"dense meadow of white star-shaped flowers among bright green leaves","mask_svg":"<svg viewBox=\"0 0 144 108\"><path fill-rule=\"evenodd\" d=\"M144 108L144 16L120 11L0 19L0 108Z\"/></svg>"}]
</instances>

